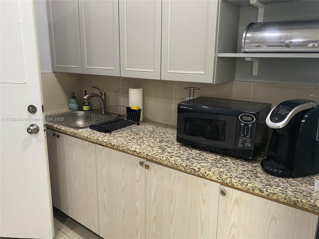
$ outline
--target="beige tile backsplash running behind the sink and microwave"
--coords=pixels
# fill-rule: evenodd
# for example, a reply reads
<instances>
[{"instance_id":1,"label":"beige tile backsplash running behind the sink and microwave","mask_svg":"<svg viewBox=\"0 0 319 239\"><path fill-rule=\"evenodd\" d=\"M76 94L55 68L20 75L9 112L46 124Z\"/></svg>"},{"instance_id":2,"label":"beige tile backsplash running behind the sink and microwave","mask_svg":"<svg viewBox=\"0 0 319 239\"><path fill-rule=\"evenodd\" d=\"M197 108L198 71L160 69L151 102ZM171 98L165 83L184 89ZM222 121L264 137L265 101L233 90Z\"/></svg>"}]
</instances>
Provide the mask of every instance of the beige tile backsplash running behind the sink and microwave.
<instances>
[{"instance_id":1,"label":"beige tile backsplash running behind the sink and microwave","mask_svg":"<svg viewBox=\"0 0 319 239\"><path fill-rule=\"evenodd\" d=\"M319 87L233 81L217 85L82 75L70 73L42 73L42 90L45 111L67 109L69 98L75 92L79 105L84 90L99 93L96 86L107 94L107 106L128 105L129 88L143 87L143 116L169 124L176 124L177 104L188 97L184 87L199 87L196 96L271 103L275 106L285 100L309 99L319 102ZM94 108L99 103L92 99Z\"/></svg>"}]
</instances>

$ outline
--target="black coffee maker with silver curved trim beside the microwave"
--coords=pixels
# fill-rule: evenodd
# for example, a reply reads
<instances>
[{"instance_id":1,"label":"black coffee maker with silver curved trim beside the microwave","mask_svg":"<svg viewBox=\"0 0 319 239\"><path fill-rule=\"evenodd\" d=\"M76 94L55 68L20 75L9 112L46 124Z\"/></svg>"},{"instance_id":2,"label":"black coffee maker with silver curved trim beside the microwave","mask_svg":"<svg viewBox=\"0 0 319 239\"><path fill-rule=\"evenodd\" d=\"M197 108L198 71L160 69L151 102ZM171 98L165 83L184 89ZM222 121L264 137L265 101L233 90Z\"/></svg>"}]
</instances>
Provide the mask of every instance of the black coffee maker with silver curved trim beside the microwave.
<instances>
[{"instance_id":1,"label":"black coffee maker with silver curved trim beside the microwave","mask_svg":"<svg viewBox=\"0 0 319 239\"><path fill-rule=\"evenodd\" d=\"M266 124L273 129L264 171L279 177L319 173L319 107L316 101L289 100L275 106Z\"/></svg>"}]
</instances>

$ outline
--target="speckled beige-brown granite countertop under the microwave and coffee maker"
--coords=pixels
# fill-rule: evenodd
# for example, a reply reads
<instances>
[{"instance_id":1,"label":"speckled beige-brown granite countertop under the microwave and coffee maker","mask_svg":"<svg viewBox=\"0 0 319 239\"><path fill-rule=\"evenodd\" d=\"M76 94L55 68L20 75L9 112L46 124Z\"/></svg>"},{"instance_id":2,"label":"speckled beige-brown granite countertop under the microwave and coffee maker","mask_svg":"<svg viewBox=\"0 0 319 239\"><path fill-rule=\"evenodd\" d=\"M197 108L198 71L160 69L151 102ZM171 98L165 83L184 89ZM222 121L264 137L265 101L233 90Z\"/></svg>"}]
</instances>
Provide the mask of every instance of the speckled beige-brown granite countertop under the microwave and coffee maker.
<instances>
[{"instance_id":1,"label":"speckled beige-brown granite countertop under the microwave and coffee maker","mask_svg":"<svg viewBox=\"0 0 319 239\"><path fill-rule=\"evenodd\" d=\"M48 121L46 126L319 215L319 191L314 189L315 175L293 179L264 172L260 162L266 157L267 150L257 159L246 161L190 148L176 141L175 125L150 120L112 133L101 133L90 128L73 129Z\"/></svg>"}]
</instances>

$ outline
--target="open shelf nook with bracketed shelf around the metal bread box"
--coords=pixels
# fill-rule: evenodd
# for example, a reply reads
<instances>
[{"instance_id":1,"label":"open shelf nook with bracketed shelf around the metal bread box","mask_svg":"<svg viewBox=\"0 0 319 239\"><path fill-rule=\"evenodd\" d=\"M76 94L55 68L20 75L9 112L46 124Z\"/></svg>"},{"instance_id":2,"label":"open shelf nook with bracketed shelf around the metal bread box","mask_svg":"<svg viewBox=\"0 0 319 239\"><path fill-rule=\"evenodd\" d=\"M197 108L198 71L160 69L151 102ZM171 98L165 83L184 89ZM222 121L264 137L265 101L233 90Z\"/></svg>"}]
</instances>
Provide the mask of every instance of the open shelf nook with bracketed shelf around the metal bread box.
<instances>
[{"instance_id":1,"label":"open shelf nook with bracketed shelf around the metal bread box","mask_svg":"<svg viewBox=\"0 0 319 239\"><path fill-rule=\"evenodd\" d=\"M318 85L319 52L241 52L249 23L318 18L318 0L221 0L219 10L216 56L223 72L238 81Z\"/></svg>"}]
</instances>

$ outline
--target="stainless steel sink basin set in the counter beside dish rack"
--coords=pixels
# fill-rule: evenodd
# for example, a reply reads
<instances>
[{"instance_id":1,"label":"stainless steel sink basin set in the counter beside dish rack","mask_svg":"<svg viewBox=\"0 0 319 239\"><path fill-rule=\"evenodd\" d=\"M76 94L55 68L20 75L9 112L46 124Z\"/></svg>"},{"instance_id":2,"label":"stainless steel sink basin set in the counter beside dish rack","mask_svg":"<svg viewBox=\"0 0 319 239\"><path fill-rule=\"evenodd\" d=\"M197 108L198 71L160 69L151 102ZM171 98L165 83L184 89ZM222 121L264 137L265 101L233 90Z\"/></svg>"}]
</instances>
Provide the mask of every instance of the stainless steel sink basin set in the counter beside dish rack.
<instances>
[{"instance_id":1,"label":"stainless steel sink basin set in the counter beside dish rack","mask_svg":"<svg viewBox=\"0 0 319 239\"><path fill-rule=\"evenodd\" d=\"M86 111L71 111L47 116L46 120L70 128L81 129L89 127L88 114Z\"/></svg>"}]
</instances>

